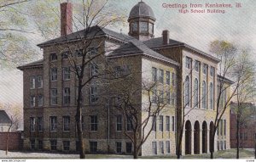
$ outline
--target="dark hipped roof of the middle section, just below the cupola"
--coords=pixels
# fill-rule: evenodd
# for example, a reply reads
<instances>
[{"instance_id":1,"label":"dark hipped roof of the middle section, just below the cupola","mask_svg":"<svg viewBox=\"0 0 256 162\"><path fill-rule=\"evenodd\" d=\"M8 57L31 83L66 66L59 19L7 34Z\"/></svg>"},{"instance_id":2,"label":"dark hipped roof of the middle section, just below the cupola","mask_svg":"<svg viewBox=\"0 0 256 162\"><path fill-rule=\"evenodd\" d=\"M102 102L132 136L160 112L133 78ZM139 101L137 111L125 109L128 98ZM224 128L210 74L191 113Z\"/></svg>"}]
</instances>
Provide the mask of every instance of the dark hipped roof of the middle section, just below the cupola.
<instances>
[{"instance_id":1,"label":"dark hipped roof of the middle section, just below the cupola","mask_svg":"<svg viewBox=\"0 0 256 162\"><path fill-rule=\"evenodd\" d=\"M134 54L143 54L148 57L152 57L154 59L160 59L162 61L166 61L168 63L179 65L177 62L169 59L160 53L154 52L154 50L150 49L146 46L143 42L138 41L137 39L133 38L129 40L129 43L120 46L119 48L115 49L113 53L110 53L108 57L119 57L119 56L129 56Z\"/></svg>"}]
</instances>

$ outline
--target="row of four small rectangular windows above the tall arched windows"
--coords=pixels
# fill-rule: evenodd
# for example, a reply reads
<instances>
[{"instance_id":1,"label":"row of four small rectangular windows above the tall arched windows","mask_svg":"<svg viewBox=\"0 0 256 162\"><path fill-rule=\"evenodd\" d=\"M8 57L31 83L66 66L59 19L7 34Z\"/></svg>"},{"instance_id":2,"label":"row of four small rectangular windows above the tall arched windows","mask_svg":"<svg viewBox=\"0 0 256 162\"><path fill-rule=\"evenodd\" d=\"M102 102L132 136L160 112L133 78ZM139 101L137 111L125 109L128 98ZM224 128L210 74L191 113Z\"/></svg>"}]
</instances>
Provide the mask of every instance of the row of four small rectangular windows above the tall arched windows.
<instances>
[{"instance_id":1,"label":"row of four small rectangular windows above the tall arched windows","mask_svg":"<svg viewBox=\"0 0 256 162\"><path fill-rule=\"evenodd\" d=\"M189 70L192 69L192 59L191 58L186 57L185 66ZM195 60L194 70L199 72L200 69L201 69L201 62L198 60ZM202 73L204 75L207 75L207 71L208 71L208 64L202 64ZM210 67L210 75L212 77L215 75L215 68L212 66Z\"/></svg>"}]
</instances>

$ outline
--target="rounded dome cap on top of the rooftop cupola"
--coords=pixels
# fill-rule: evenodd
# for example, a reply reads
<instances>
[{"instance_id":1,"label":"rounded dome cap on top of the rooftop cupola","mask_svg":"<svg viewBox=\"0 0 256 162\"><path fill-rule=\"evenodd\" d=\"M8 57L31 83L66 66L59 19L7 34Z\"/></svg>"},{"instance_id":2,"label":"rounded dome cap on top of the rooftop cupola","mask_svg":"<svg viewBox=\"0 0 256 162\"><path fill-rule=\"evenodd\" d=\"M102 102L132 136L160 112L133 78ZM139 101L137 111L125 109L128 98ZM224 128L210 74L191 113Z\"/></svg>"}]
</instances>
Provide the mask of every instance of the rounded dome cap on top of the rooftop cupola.
<instances>
[{"instance_id":1,"label":"rounded dome cap on top of the rooftop cupola","mask_svg":"<svg viewBox=\"0 0 256 162\"><path fill-rule=\"evenodd\" d=\"M152 8L150 8L148 4L144 2L139 2L133 8L131 8L129 20L132 18L139 18L139 17L149 17L155 20L154 12Z\"/></svg>"}]
</instances>

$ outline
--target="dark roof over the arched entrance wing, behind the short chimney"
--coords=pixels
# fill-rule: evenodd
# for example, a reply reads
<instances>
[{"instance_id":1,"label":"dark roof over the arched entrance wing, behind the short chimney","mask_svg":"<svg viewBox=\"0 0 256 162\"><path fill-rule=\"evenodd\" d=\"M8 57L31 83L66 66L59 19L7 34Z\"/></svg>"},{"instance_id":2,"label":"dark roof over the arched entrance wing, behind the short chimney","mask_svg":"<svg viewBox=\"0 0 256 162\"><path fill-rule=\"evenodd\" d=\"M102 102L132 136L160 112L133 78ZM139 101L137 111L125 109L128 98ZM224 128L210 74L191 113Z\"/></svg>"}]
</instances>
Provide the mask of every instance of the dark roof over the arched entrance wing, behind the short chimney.
<instances>
[{"instance_id":1,"label":"dark roof over the arched entrance wing, behind the short chimney","mask_svg":"<svg viewBox=\"0 0 256 162\"><path fill-rule=\"evenodd\" d=\"M195 47L191 47L189 46L188 44L184 43L184 42L178 42L178 41L175 41L175 40L172 40L172 39L169 39L169 43L168 44L163 44L163 38L162 37L157 37L157 38L152 38L148 41L144 41L144 43L150 47L150 48L162 48L162 47L176 47L176 46L181 46L181 47L185 47L189 50L192 50L192 51L195 51L196 53L200 53L201 55L203 56L206 56L207 58L209 59L213 59L217 62L220 61L220 59L218 59L217 57L215 56L212 56L211 54L208 54L208 53L205 53L205 52L202 52L201 50L195 48Z\"/></svg>"}]
</instances>

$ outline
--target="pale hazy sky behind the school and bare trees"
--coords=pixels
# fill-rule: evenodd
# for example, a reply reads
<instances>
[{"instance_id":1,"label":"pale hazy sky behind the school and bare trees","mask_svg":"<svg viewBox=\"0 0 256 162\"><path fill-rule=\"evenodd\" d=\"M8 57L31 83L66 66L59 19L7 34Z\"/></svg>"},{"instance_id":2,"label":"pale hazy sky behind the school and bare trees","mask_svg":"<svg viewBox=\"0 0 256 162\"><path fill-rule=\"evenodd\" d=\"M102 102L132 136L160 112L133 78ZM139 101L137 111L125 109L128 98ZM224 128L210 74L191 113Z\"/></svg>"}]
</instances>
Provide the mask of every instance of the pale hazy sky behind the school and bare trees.
<instances>
[{"instance_id":1,"label":"pale hazy sky behind the school and bare trees","mask_svg":"<svg viewBox=\"0 0 256 162\"><path fill-rule=\"evenodd\" d=\"M58 0L56 0L58 2ZM75 3L76 0L73 0ZM127 19L131 8L139 0L110 0L114 8L125 12ZM256 58L256 1L254 0L143 0L154 11L156 18L154 36L160 37L163 30L170 31L170 38L179 42L185 42L201 51L208 52L210 42L214 40L227 40L241 47L252 50L253 59ZM189 13L179 13L180 8L164 8L164 4L187 5ZM202 4L203 8L190 8L190 3ZM224 9L224 14L191 13L190 9L207 9L206 3L230 3L232 8ZM236 8L236 3L241 3L241 8ZM58 6L56 6L58 7ZM216 8L210 8L216 9ZM128 33L128 24L112 28L113 31ZM44 39L35 34L27 36L35 48ZM42 57L42 51L38 48L38 55ZM23 102L23 79L20 70L0 70L0 102Z\"/></svg>"}]
</instances>

